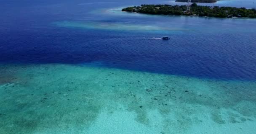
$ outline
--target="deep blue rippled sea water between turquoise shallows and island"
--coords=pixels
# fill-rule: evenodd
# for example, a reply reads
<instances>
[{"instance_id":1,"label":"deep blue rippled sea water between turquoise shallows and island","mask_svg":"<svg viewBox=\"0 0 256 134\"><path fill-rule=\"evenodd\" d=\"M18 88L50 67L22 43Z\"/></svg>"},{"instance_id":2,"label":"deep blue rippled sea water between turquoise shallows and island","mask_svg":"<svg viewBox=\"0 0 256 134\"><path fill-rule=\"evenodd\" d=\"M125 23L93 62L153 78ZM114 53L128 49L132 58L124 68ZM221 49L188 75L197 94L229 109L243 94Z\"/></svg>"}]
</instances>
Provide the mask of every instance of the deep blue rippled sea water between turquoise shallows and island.
<instances>
[{"instance_id":1,"label":"deep blue rippled sea water between turquoise shallows and island","mask_svg":"<svg viewBox=\"0 0 256 134\"><path fill-rule=\"evenodd\" d=\"M105 13L104 9L156 2L97 2L0 0L0 62L91 64L211 79L256 80L254 19ZM54 24L63 21L128 23L163 29L72 28ZM177 29L168 31L165 27ZM170 36L171 40L154 39L162 36Z\"/></svg>"}]
</instances>

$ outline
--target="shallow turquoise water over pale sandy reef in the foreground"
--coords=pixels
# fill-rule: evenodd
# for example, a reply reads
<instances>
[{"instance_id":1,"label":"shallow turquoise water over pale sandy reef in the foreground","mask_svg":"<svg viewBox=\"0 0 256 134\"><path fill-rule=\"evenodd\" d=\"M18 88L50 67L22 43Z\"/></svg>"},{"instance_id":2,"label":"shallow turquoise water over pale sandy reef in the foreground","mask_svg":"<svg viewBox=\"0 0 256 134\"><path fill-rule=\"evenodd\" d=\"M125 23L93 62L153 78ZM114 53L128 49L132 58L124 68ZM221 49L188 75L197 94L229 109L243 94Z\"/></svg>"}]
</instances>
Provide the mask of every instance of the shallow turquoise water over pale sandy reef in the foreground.
<instances>
[{"instance_id":1,"label":"shallow turquoise water over pale sandy reef in the foreground","mask_svg":"<svg viewBox=\"0 0 256 134\"><path fill-rule=\"evenodd\" d=\"M0 66L0 134L255 134L256 82Z\"/></svg>"}]
</instances>

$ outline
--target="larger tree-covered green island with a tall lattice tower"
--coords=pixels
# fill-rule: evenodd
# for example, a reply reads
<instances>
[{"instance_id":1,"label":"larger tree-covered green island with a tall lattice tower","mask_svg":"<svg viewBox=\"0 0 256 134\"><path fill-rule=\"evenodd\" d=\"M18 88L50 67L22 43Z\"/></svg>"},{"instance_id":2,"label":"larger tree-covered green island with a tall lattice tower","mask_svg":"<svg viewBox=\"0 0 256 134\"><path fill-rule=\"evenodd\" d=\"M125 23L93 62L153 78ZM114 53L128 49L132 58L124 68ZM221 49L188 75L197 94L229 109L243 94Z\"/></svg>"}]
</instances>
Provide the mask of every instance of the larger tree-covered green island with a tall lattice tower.
<instances>
[{"instance_id":1,"label":"larger tree-covered green island with a tall lattice tower","mask_svg":"<svg viewBox=\"0 0 256 134\"><path fill-rule=\"evenodd\" d=\"M256 18L256 9L199 6L196 3L191 4L190 10L187 10L186 5L141 5L123 8L122 11L152 15L193 15L217 18Z\"/></svg>"}]
</instances>

